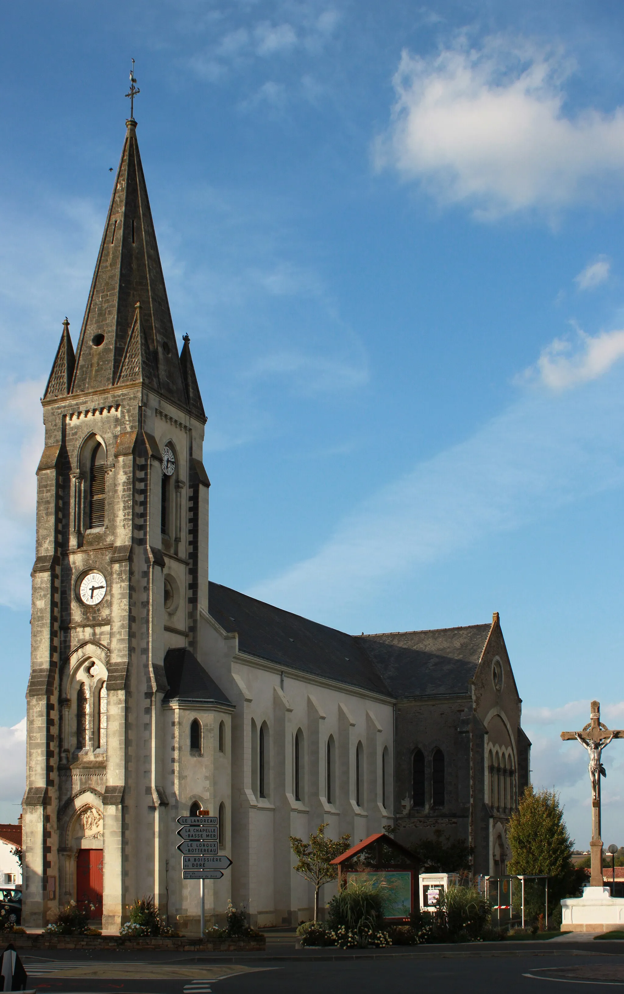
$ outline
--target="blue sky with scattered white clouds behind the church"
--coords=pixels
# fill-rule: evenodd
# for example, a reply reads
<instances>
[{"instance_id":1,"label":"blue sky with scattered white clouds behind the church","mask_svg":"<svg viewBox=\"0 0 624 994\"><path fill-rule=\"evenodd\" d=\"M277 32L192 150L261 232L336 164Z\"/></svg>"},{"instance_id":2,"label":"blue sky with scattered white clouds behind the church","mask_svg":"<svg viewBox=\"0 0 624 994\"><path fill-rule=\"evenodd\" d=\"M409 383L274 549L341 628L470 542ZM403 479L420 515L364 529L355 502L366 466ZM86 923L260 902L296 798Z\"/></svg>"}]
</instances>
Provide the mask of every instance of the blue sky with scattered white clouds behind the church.
<instances>
[{"instance_id":1,"label":"blue sky with scattered white clouds behind the church","mask_svg":"<svg viewBox=\"0 0 624 994\"><path fill-rule=\"evenodd\" d=\"M133 57L208 414L212 579L354 632L499 610L533 778L587 844L584 755L557 735L594 697L624 719L624 14L520 8L3 6L0 817L39 398L65 315L80 329ZM624 844L621 750L604 835Z\"/></svg>"}]
</instances>

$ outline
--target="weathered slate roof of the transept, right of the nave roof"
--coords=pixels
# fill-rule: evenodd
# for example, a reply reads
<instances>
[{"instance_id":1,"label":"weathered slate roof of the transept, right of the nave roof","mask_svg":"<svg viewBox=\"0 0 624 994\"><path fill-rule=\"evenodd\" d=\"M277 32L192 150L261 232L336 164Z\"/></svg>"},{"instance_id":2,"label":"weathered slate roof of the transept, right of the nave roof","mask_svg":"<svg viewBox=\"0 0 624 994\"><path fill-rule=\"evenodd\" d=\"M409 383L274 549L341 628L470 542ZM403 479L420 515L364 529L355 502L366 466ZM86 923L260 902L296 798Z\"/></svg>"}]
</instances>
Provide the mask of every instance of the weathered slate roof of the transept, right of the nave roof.
<instances>
[{"instance_id":1,"label":"weathered slate roof of the transept, right of the nave roof","mask_svg":"<svg viewBox=\"0 0 624 994\"><path fill-rule=\"evenodd\" d=\"M397 698L466 694L492 624L359 636Z\"/></svg>"}]
</instances>

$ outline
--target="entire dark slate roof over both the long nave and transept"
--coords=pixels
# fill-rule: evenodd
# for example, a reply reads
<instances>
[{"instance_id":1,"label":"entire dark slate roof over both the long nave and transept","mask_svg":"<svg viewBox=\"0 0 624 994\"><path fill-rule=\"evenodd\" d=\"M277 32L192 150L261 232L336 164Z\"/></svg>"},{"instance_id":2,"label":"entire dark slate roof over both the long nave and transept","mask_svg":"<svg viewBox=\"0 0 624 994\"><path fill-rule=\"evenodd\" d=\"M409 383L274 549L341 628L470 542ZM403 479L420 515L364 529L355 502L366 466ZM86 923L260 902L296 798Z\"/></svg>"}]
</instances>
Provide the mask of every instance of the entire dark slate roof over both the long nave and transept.
<instances>
[{"instance_id":1,"label":"entire dark slate roof over both the long nave and transept","mask_svg":"<svg viewBox=\"0 0 624 994\"><path fill-rule=\"evenodd\" d=\"M208 605L242 652L395 698L468 693L492 628L347 635L212 581Z\"/></svg>"}]
</instances>

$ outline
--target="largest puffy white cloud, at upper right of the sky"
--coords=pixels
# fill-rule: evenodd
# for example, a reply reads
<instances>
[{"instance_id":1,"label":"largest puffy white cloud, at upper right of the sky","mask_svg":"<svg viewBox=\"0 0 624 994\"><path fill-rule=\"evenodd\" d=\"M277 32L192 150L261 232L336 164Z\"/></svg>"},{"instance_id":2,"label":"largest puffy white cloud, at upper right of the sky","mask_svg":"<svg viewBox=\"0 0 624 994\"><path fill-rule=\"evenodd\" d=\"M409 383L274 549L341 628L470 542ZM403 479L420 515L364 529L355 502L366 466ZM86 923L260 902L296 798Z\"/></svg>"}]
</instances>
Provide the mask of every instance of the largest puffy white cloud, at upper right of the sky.
<instances>
[{"instance_id":1,"label":"largest puffy white cloud, at upper right of the sky","mask_svg":"<svg viewBox=\"0 0 624 994\"><path fill-rule=\"evenodd\" d=\"M624 109L566 115L569 72L560 53L502 38L404 52L376 163L481 217L603 199L606 184L622 188Z\"/></svg>"}]
</instances>

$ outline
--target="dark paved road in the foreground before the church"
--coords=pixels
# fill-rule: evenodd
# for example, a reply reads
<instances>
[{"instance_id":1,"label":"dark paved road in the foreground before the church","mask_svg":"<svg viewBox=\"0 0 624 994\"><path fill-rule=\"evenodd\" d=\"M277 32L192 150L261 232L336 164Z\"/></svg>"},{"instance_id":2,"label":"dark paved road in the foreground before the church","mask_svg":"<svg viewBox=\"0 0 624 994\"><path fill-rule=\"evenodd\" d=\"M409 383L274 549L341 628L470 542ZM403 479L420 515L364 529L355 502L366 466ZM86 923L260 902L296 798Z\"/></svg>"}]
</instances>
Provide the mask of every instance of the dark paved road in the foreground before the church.
<instances>
[{"instance_id":1,"label":"dark paved road in the foreground before the church","mask_svg":"<svg viewBox=\"0 0 624 994\"><path fill-rule=\"evenodd\" d=\"M215 962L209 957L103 954L80 957L24 955L29 985L40 994L579 994L624 988L624 955L594 951L470 952L432 950L426 955L322 961L267 958ZM429 950L432 950L429 952ZM107 976L106 976L107 974ZM553 987L553 982L556 986Z\"/></svg>"}]
</instances>

